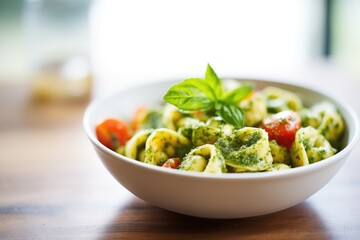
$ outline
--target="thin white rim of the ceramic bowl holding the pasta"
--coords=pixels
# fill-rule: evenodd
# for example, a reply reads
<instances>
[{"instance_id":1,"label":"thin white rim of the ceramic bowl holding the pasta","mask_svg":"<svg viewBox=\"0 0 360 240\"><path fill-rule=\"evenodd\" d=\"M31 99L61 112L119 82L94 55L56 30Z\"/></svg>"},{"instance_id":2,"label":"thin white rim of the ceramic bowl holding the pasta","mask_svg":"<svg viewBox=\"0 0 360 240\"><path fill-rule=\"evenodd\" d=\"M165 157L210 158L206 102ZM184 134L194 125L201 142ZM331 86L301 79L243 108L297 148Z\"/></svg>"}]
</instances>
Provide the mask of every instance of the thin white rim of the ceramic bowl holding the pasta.
<instances>
[{"instance_id":1,"label":"thin white rim of the ceramic bowl holding the pasta","mask_svg":"<svg viewBox=\"0 0 360 240\"><path fill-rule=\"evenodd\" d=\"M82 120L83 128L85 130L87 137L90 139L90 141L93 143L93 145L97 149L99 149L100 151L102 151L105 154L112 156L116 160L126 161L127 163L133 164L134 166L137 166L140 168L146 168L149 171L155 171L155 172L158 172L159 174L176 175L176 176L180 176L180 177L192 177L192 178L201 178L201 179L209 179L209 180L284 178L289 175L295 176L295 175L299 175L299 174L314 172L314 171L317 171L318 169L322 169L322 168L325 168L326 166L332 165L335 162L341 161L341 159L345 158L348 154L350 154L350 152L352 151L352 149L354 148L355 144L358 141L359 119L357 117L357 114L351 107L351 105L348 104L344 100L340 101L335 96L330 97L328 94L326 94L325 92L323 92L322 90L320 90L319 88L317 88L315 86L312 86L310 84L304 84L304 83L298 84L298 83L278 81L278 80L269 80L269 79L255 79L255 78L251 79L251 78L238 78L238 77L236 77L236 78L230 77L230 78L223 78L223 79L234 79L234 80L238 80L238 81L251 81L251 82L259 81L259 82L266 82L269 84L271 84L271 83L283 84L283 85L287 85L289 87L301 88L303 90L312 91L316 94L326 96L331 101L333 101L338 106L340 106L342 108L341 110L346 111L347 115L350 116L350 121L352 121L354 123L352 125L352 129L351 129L352 137L350 138L350 136L349 136L349 141L348 141L347 145L343 149L341 149L338 153L336 153L335 155L327 158L326 161L319 161L319 162L316 162L313 164L309 164L309 165L297 167L297 168L291 168L291 169L284 170L284 171L251 172L251 173L250 172L221 173L221 174L181 171L178 169L163 168L160 166L155 166L155 165L151 165L148 163L140 162L140 161L128 158L119 153L116 153L115 151L112 151L111 149L109 149L109 148L105 147L103 144L101 144L100 141L96 138L94 131L91 129L89 119L90 119L91 114L94 112L94 110L97 107L101 106L104 102L106 102L107 99L115 97L116 95L119 95L122 92L131 90L131 89L146 88L147 86L159 85L159 84L162 85L162 84L166 84L166 83L173 84L173 83L180 81L180 80L176 80L176 79L173 79L172 81L169 81L169 80L167 80L167 81L161 81L161 80L160 81L152 81L150 83L139 84L139 85L132 86L129 88L122 88L122 89L119 89L119 90L113 92L112 94L98 97L97 99L92 100L90 102L90 104L86 107L84 115L83 115L83 120ZM349 131L350 131L350 129L349 129Z\"/></svg>"}]
</instances>

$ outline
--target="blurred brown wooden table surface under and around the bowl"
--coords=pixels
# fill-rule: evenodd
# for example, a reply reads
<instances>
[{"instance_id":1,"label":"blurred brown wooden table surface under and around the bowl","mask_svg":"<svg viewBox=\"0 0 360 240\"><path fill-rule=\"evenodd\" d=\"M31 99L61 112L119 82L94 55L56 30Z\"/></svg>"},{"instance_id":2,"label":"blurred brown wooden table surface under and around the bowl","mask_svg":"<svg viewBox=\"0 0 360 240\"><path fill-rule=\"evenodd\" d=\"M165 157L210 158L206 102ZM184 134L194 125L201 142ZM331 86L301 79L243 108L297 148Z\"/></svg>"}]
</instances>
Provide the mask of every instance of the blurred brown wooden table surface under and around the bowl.
<instances>
[{"instance_id":1,"label":"blurred brown wooden table surface under and around the bowl","mask_svg":"<svg viewBox=\"0 0 360 240\"><path fill-rule=\"evenodd\" d=\"M301 77L360 113L360 81ZM304 80L305 79L305 80ZM211 220L162 210L118 184L82 128L87 103L37 105L0 85L0 239L360 239L360 145L318 193L287 210Z\"/></svg>"}]
</instances>

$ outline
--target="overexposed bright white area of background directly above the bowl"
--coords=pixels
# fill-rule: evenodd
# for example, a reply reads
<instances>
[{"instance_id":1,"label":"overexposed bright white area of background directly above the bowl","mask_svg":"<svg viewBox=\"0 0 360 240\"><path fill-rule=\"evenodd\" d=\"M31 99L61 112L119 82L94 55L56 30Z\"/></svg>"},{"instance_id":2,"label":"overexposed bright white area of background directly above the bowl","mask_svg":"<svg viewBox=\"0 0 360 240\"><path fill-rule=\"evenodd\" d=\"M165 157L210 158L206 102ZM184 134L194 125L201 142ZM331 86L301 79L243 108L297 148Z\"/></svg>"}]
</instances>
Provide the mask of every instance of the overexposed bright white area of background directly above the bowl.
<instances>
[{"instance_id":1,"label":"overexposed bright white area of background directly above the bowl","mask_svg":"<svg viewBox=\"0 0 360 240\"><path fill-rule=\"evenodd\" d=\"M220 76L288 76L321 47L319 3L97 1L90 25L98 87L202 76L207 63Z\"/></svg>"}]
</instances>

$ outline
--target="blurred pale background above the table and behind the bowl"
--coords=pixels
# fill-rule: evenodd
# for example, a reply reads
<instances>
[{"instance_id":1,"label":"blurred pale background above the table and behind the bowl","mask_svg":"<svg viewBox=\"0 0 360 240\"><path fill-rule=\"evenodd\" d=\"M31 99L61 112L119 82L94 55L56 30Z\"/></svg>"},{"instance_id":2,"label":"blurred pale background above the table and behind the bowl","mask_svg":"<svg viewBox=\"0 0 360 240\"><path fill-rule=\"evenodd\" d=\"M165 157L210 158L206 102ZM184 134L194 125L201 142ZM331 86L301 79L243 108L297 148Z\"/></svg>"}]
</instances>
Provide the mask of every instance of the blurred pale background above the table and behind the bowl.
<instances>
[{"instance_id":1,"label":"blurred pale background above the table and behind the bowl","mask_svg":"<svg viewBox=\"0 0 360 240\"><path fill-rule=\"evenodd\" d=\"M0 0L0 84L89 99L149 80L296 79L331 61L360 79L357 0Z\"/></svg>"}]
</instances>

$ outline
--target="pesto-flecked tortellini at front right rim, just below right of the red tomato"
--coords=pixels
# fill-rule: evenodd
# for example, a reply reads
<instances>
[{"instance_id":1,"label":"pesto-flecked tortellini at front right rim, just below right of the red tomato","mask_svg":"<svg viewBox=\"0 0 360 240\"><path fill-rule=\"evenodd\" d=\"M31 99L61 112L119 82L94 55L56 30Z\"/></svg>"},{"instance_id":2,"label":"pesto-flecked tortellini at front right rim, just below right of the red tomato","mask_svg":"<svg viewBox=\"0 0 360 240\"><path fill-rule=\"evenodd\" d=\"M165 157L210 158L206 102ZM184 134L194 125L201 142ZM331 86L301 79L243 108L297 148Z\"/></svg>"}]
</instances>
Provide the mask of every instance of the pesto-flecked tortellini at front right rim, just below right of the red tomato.
<instances>
[{"instance_id":1,"label":"pesto-flecked tortellini at front right rim, just below right of the red tomato","mask_svg":"<svg viewBox=\"0 0 360 240\"><path fill-rule=\"evenodd\" d=\"M336 150L315 128L300 128L290 148L291 164L300 167L331 157Z\"/></svg>"}]
</instances>

